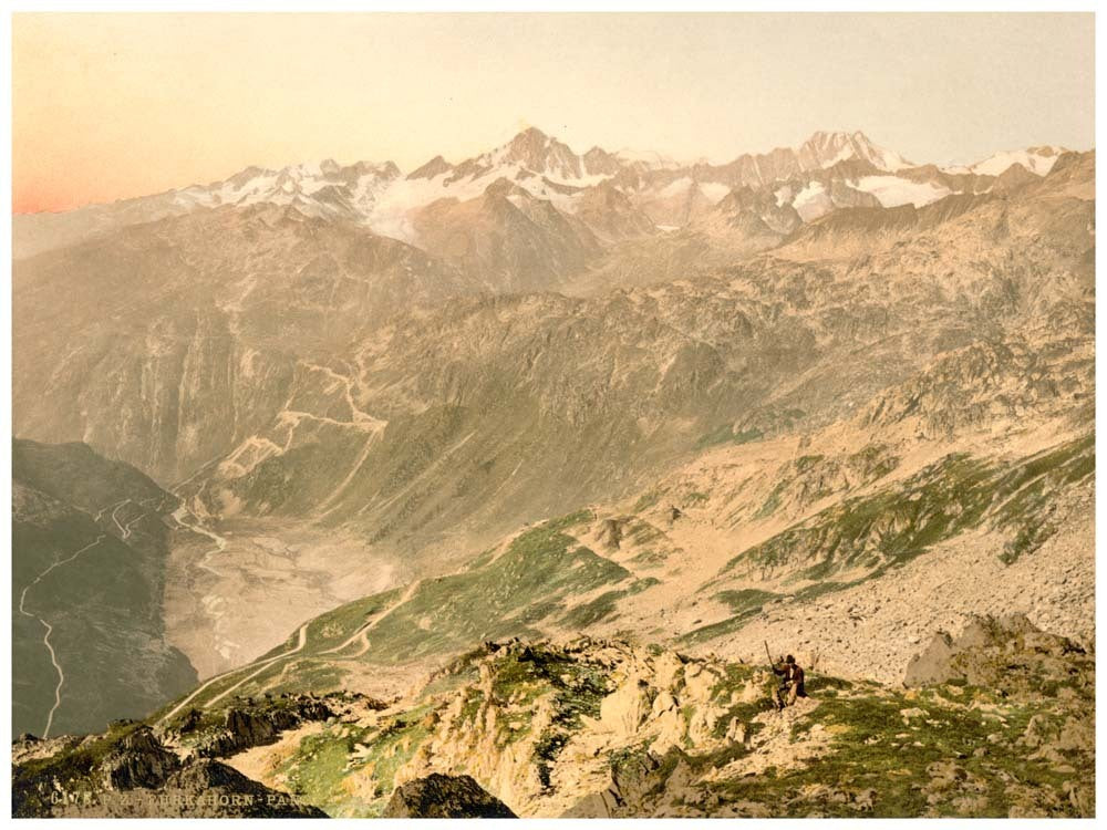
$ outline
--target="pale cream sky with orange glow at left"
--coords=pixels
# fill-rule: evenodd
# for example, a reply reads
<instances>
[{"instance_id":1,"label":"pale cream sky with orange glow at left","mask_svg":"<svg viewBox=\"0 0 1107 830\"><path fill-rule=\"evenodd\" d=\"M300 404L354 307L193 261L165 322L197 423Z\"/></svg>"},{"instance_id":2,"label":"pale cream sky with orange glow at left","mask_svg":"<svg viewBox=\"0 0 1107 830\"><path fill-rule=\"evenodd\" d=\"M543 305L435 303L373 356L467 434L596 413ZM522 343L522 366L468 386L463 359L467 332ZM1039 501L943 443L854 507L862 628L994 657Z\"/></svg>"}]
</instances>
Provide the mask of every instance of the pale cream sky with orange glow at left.
<instances>
[{"instance_id":1,"label":"pale cream sky with orange glow at left","mask_svg":"<svg viewBox=\"0 0 1107 830\"><path fill-rule=\"evenodd\" d=\"M1094 15L15 14L13 203L60 210L251 164L489 149L724 162L862 129L912 162L1094 144Z\"/></svg>"}]
</instances>

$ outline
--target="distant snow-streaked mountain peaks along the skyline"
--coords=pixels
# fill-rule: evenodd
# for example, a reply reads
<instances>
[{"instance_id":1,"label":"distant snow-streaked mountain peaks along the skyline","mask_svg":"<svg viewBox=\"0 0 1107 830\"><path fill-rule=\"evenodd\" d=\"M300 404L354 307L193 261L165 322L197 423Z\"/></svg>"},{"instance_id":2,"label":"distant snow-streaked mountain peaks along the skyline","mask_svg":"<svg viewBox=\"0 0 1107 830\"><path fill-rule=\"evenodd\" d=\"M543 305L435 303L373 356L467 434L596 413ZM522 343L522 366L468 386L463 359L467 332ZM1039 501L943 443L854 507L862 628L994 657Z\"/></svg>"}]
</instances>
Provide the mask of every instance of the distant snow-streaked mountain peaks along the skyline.
<instances>
[{"instance_id":1,"label":"distant snow-streaked mountain peaks along the skyline","mask_svg":"<svg viewBox=\"0 0 1107 830\"><path fill-rule=\"evenodd\" d=\"M915 165L873 144L863 133L818 132L798 147L743 154L713 165L681 165L654 153L609 153L592 147L578 155L531 127L510 142L459 164L436 156L404 175L392 162L340 165L332 159L281 169L247 167L208 185L93 205L64 214L24 214L14 221L15 256L196 208L232 205L292 206L306 216L342 218L382 236L423 245L423 211L441 199L468 203L500 179L573 216L608 185L627 197L656 228L674 229L708 214L735 188L772 190L775 208L811 221L839 207L915 207L950 194L991 190L1012 166L1048 173L1062 147L1003 152L977 164L940 168ZM587 221L586 221L587 224ZM633 230L646 232L642 221ZM433 242L430 242L433 246Z\"/></svg>"}]
</instances>

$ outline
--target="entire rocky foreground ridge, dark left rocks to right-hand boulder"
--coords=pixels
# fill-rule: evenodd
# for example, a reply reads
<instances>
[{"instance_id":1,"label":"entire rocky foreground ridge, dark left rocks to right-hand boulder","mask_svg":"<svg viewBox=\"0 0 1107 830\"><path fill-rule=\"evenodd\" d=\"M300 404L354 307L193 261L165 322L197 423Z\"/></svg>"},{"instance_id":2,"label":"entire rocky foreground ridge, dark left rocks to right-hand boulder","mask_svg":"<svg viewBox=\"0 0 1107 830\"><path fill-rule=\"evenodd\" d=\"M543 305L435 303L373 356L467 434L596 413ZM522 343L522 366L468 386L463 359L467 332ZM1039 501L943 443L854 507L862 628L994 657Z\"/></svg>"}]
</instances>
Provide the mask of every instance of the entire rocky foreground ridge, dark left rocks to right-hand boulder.
<instances>
[{"instance_id":1,"label":"entire rocky foreground ridge, dark left rocks to right-hand boulder","mask_svg":"<svg viewBox=\"0 0 1107 830\"><path fill-rule=\"evenodd\" d=\"M263 801L334 817L1088 816L1094 665L1024 618L981 619L935 636L908 670L917 688L810 667L809 696L778 713L757 664L588 637L488 642L393 701L288 695L83 741L21 738L15 803L144 815L121 805L164 810L203 779L252 793L223 815ZM220 728L236 739L200 737ZM51 788L85 806L50 806Z\"/></svg>"}]
</instances>

